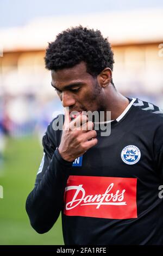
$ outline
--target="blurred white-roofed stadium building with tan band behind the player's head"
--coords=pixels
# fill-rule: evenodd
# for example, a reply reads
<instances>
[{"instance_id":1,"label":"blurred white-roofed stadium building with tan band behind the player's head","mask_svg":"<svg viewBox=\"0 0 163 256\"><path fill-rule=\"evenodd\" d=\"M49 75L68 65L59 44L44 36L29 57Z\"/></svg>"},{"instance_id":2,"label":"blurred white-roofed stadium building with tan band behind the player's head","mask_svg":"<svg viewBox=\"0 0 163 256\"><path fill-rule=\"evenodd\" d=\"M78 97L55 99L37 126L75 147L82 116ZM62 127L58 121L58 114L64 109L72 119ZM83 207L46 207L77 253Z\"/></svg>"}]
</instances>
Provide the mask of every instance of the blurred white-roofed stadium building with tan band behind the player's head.
<instances>
[{"instance_id":1,"label":"blurred white-roofed stadium building with tan band behind the player's head","mask_svg":"<svg viewBox=\"0 0 163 256\"><path fill-rule=\"evenodd\" d=\"M99 29L108 37L115 58L113 81L120 92L141 98L143 95L144 100L151 99L163 107L162 24L163 9L149 9L47 17L33 20L24 27L1 29L0 96L12 97L8 114L19 121L22 116L30 119L28 102L23 98L29 94L35 95L41 105L55 99L57 102L51 74L45 69L45 49L59 32L78 25ZM15 102L17 96L19 100ZM26 106L23 107L22 102ZM21 109L19 117L18 109ZM30 115L31 111L29 107ZM37 112L36 107L33 111Z\"/></svg>"}]
</instances>

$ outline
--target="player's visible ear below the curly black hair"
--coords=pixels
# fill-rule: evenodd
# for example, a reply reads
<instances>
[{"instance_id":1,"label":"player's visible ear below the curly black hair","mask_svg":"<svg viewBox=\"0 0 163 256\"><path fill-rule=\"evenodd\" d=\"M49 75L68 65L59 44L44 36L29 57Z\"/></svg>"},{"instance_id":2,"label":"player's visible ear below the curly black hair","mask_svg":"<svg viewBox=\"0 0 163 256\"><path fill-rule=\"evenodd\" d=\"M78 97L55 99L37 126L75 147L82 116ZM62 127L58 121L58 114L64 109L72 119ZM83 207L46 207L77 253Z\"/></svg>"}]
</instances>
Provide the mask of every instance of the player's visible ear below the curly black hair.
<instances>
[{"instance_id":1,"label":"player's visible ear below the curly black hair","mask_svg":"<svg viewBox=\"0 0 163 256\"><path fill-rule=\"evenodd\" d=\"M108 86L112 79L112 71L110 68L105 68L98 76L97 80L101 87L105 88Z\"/></svg>"}]
</instances>

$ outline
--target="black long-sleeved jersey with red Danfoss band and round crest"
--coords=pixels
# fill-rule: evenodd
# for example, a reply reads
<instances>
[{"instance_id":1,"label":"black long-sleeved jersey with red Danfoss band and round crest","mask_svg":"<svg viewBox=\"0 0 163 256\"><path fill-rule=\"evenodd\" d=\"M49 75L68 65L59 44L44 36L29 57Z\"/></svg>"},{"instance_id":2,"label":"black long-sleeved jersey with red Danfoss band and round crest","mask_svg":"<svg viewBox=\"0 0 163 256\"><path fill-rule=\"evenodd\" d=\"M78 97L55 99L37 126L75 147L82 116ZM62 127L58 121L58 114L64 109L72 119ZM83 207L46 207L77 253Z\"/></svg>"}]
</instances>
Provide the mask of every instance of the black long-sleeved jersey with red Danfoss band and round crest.
<instances>
[{"instance_id":1,"label":"black long-sleeved jersey with red Danfoss band and round crest","mask_svg":"<svg viewBox=\"0 0 163 256\"><path fill-rule=\"evenodd\" d=\"M62 214L66 245L162 245L163 114L139 99L111 122L111 134L73 163L59 154L53 122L26 209L38 233Z\"/></svg>"}]
</instances>

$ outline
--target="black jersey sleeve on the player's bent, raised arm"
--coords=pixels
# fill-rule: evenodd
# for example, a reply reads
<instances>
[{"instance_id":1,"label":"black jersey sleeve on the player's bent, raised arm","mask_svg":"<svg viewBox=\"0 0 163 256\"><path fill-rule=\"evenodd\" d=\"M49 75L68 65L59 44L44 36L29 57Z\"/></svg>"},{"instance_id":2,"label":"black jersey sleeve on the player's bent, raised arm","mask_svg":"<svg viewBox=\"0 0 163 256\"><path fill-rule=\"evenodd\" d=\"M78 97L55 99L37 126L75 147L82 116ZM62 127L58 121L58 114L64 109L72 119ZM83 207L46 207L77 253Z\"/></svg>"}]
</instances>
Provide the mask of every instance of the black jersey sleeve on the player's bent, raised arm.
<instances>
[{"instance_id":1,"label":"black jersey sleeve on the player's bent, raised arm","mask_svg":"<svg viewBox=\"0 0 163 256\"><path fill-rule=\"evenodd\" d=\"M59 217L64 206L64 191L72 162L59 154L51 127L43 136L43 158L37 172L35 187L26 200L26 211L37 233L46 233Z\"/></svg>"}]
</instances>

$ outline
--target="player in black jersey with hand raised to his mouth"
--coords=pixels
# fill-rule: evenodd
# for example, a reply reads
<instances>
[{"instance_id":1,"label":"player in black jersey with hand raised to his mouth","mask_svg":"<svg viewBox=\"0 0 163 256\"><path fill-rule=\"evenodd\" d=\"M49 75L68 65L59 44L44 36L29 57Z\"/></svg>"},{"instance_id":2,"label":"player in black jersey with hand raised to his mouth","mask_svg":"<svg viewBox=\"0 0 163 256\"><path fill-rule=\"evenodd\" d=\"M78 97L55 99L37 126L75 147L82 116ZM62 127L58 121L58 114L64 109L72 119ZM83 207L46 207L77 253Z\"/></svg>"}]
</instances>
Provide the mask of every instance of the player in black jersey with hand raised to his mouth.
<instances>
[{"instance_id":1,"label":"player in black jersey with hand raised to his mouth","mask_svg":"<svg viewBox=\"0 0 163 256\"><path fill-rule=\"evenodd\" d=\"M100 31L79 26L60 33L45 63L65 117L62 130L59 115L42 139L26 202L32 227L47 232L61 212L66 245L161 245L161 109L117 92L113 53ZM110 111L110 135L101 136L83 111Z\"/></svg>"}]
</instances>

